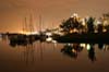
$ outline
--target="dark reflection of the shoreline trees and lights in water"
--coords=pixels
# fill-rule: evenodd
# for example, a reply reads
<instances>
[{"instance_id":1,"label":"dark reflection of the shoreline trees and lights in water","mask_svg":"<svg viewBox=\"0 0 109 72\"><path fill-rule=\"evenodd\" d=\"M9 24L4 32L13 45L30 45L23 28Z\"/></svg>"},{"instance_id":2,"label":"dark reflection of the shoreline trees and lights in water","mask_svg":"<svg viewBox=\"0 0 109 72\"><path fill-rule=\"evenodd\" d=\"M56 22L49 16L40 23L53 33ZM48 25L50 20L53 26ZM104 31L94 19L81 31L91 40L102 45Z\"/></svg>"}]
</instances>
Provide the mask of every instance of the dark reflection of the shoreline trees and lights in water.
<instances>
[{"instance_id":1,"label":"dark reflection of the shoreline trees and lights in water","mask_svg":"<svg viewBox=\"0 0 109 72\"><path fill-rule=\"evenodd\" d=\"M61 52L71 58L77 59L78 52L83 49L87 49L88 59L90 61L96 61L95 48L99 50L107 51L109 50L109 45L107 44L65 44L61 49Z\"/></svg>"}]
</instances>

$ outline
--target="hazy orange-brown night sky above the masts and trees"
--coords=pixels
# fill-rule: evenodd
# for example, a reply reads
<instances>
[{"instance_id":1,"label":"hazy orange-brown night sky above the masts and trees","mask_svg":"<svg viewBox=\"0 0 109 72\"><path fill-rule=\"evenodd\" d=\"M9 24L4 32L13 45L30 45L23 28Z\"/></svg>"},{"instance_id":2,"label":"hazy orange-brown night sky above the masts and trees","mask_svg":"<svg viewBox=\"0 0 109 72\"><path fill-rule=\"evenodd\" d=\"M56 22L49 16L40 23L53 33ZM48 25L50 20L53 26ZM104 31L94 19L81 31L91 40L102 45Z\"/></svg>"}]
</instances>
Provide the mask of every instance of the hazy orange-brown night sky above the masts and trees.
<instances>
[{"instance_id":1,"label":"hazy orange-brown night sky above the masts and trees","mask_svg":"<svg viewBox=\"0 0 109 72\"><path fill-rule=\"evenodd\" d=\"M109 0L0 0L0 32L20 32L24 19L29 22L29 14L35 29L39 27L39 15L44 28L51 28L75 12L82 17L101 16L109 12Z\"/></svg>"}]
</instances>

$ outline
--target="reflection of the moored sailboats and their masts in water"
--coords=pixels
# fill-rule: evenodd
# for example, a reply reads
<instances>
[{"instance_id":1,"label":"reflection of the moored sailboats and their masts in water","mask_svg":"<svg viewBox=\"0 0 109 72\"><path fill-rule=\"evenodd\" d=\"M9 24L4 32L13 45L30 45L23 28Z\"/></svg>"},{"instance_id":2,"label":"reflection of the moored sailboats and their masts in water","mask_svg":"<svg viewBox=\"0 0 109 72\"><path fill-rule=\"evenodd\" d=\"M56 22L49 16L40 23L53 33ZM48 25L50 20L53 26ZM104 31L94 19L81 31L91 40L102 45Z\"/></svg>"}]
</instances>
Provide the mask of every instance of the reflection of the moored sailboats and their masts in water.
<instances>
[{"instance_id":1,"label":"reflection of the moored sailboats and their masts in water","mask_svg":"<svg viewBox=\"0 0 109 72\"><path fill-rule=\"evenodd\" d=\"M17 48L21 53L21 60L24 61L26 64L35 63L35 44L28 40L16 40L16 39L9 39L9 45L11 48Z\"/></svg>"}]
</instances>

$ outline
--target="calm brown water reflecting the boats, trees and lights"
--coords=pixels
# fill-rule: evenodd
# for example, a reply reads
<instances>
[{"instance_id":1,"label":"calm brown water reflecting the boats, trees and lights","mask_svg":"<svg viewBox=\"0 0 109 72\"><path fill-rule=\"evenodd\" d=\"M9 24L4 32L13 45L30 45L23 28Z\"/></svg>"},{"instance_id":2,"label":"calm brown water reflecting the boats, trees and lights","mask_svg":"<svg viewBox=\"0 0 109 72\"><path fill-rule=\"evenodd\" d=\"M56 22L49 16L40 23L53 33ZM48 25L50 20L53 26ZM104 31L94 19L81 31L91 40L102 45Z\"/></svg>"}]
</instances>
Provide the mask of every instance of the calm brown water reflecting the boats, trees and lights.
<instances>
[{"instance_id":1,"label":"calm brown water reflecting the boats, trees and lights","mask_svg":"<svg viewBox=\"0 0 109 72\"><path fill-rule=\"evenodd\" d=\"M0 72L109 72L108 49L107 44L14 46L0 38Z\"/></svg>"}]
</instances>

